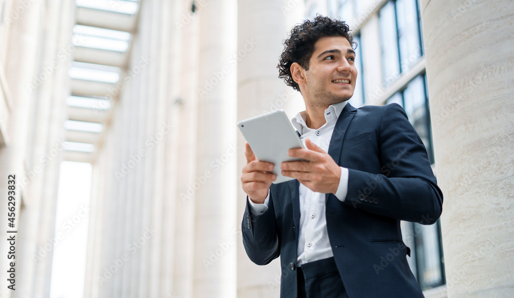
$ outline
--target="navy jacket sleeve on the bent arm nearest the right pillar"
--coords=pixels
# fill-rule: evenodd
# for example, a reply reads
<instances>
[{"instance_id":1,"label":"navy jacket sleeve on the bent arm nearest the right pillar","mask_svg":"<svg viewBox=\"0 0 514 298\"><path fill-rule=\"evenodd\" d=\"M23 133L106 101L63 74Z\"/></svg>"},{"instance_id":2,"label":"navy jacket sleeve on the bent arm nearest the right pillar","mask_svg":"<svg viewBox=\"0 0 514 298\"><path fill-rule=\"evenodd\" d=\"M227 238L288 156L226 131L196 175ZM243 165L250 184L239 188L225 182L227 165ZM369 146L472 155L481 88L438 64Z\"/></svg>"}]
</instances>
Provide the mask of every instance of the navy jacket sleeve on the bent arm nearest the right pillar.
<instances>
[{"instance_id":1,"label":"navy jacket sleeve on the bent arm nearest the right pillar","mask_svg":"<svg viewBox=\"0 0 514 298\"><path fill-rule=\"evenodd\" d=\"M379 174L348 169L346 205L394 219L432 224L443 206L423 142L398 104L382 113Z\"/></svg>"}]
</instances>

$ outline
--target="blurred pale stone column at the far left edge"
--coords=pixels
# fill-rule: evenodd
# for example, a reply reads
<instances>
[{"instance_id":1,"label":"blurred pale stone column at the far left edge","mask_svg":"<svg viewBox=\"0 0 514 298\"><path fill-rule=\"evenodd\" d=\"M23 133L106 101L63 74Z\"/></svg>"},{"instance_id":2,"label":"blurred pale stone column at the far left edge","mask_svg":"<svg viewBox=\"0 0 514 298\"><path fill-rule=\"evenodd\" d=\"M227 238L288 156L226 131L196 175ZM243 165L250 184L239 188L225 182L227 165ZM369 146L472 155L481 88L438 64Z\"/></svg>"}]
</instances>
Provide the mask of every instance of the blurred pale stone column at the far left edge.
<instances>
[{"instance_id":1,"label":"blurred pale stone column at the far left edge","mask_svg":"<svg viewBox=\"0 0 514 298\"><path fill-rule=\"evenodd\" d=\"M7 177L9 174L16 175L16 211L14 222L15 226L11 230L19 231L15 234L15 270L16 270L16 291L7 289L7 269L0 272L1 282L0 291L6 293L8 297L29 297L32 295L32 286L34 278L34 265L31 259L35 252L36 236L30 229L37 226L34 218L30 215L37 212L31 204L29 197L31 179L28 176L28 170L25 169L27 155L29 155L28 132L31 129L33 120L30 117L30 106L33 103L34 95L27 88L27 84L34 78L37 73L38 59L40 52L38 51L40 37L40 16L44 4L42 2L31 3L28 7L23 5L22 1L12 3L10 11L6 11L5 15L9 17L9 46L7 49L5 65L3 72L5 75L5 83L3 89L8 91L6 94L6 102L9 104L9 111L3 113L8 118L1 119L7 132L5 147L0 151L0 164L2 165L0 172L2 180L0 181L0 190L3 194L7 194L8 184ZM16 15L16 17L12 17ZM4 20L4 25L7 24ZM5 29L5 28L4 28ZM4 30L6 32L7 30ZM4 83L3 82L3 83ZM4 91L3 90L3 91ZM2 91L2 92L3 92ZM23 201L22 201L23 199ZM7 215L7 198L2 199L0 211ZM25 207L23 207L25 205ZM6 223L5 223L6 224ZM7 229L3 229L0 233L3 239L7 239L10 233L6 233ZM9 246L2 244L0 252L3 256L7 256ZM20 262L20 260L22 260ZM7 257L0 259L2 268L10 268Z\"/></svg>"}]
</instances>

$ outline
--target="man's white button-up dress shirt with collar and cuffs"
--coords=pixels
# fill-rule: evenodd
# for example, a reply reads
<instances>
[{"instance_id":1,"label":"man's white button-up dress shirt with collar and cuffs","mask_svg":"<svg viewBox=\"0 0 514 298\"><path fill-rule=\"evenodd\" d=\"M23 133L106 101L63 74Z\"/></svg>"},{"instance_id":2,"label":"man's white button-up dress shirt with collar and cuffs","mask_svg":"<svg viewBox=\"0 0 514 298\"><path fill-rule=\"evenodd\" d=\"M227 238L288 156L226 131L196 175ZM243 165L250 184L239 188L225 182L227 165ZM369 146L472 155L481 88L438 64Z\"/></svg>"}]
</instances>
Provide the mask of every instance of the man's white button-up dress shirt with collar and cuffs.
<instances>
[{"instance_id":1,"label":"man's white button-up dress shirt with collar and cuffs","mask_svg":"<svg viewBox=\"0 0 514 298\"><path fill-rule=\"evenodd\" d=\"M300 132L300 139L309 138L311 142L318 145L325 152L336 126L336 121L341 114L346 101L332 104L325 110L326 123L319 129L311 129L306 125L306 112L300 112L292 119L292 125ZM280 165L275 165L280 166ZM341 167L341 179L336 191L336 197L344 201L348 191L348 169ZM300 183L300 227L298 239L298 264L301 266L312 262L334 256L328 240L325 218L325 194L314 192ZM251 200L250 209L253 214L263 214L268 209L268 197L263 204L255 204Z\"/></svg>"}]
</instances>

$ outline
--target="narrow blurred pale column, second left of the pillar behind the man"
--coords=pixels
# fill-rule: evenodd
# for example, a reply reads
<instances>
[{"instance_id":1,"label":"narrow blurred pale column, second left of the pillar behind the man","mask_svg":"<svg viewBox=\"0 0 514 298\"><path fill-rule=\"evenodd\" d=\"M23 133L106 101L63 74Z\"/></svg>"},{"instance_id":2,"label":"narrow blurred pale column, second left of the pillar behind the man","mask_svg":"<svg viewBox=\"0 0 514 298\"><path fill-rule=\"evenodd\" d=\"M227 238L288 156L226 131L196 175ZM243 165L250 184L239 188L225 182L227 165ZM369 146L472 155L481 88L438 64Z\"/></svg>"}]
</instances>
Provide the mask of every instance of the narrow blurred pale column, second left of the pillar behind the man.
<instances>
[{"instance_id":1,"label":"narrow blurred pale column, second left of the pillar behind the man","mask_svg":"<svg viewBox=\"0 0 514 298\"><path fill-rule=\"evenodd\" d=\"M176 237L176 225L182 227L181 222L177 222L177 214L183 209L179 203L177 196L177 180L182 174L183 168L177 167L182 155L179 154L179 147L182 145L183 139L180 138L180 104L176 100L180 96L181 85L181 32L177 30L175 23L179 20L182 9L182 1L162 1L162 10L160 18L162 20L159 40L160 64L159 77L157 87L159 88L160 109L162 110L162 119L159 126L163 128L164 122L168 128L163 130L166 132L165 141L159 151L157 164L161 167L161 174L158 176L161 187L161 206L157 208L162 214L161 223L161 249L160 254L155 257L155 262L159 266L158 275L159 291L156 297L173 297L175 280L175 247L182 244L182 238ZM189 65L188 65L189 66ZM179 295L180 296L180 295Z\"/></svg>"}]
</instances>

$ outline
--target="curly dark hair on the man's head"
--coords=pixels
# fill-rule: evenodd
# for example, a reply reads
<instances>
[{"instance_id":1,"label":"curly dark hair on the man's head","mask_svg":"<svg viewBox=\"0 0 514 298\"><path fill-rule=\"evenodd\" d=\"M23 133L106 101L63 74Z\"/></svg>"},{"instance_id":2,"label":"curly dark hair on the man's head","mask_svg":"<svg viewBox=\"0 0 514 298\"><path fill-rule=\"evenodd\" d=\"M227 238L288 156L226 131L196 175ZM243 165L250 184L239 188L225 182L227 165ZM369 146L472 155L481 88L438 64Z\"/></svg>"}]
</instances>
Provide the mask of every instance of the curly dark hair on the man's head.
<instances>
[{"instance_id":1,"label":"curly dark hair on the man's head","mask_svg":"<svg viewBox=\"0 0 514 298\"><path fill-rule=\"evenodd\" d=\"M284 79L286 85L300 91L298 83L292 79L291 64L297 62L308 71L314 44L322 37L342 36L348 40L353 49L356 49L357 43L353 41L350 31L350 27L344 21L319 14L313 21L305 20L302 24L295 26L289 38L284 41L284 50L277 66L279 78Z\"/></svg>"}]
</instances>

